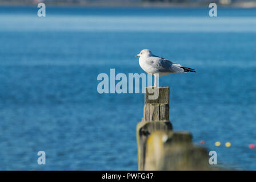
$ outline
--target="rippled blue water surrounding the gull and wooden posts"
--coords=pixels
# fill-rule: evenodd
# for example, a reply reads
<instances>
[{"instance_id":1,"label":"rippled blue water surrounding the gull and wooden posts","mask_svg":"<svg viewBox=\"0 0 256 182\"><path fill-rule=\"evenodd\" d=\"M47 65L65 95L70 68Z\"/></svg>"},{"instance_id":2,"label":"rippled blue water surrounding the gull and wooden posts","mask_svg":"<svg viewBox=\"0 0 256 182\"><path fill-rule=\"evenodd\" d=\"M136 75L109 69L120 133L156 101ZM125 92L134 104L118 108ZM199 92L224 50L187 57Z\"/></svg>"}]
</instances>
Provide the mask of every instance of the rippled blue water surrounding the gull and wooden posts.
<instances>
[{"instance_id":1,"label":"rippled blue water surrounding the gull and wooden posts","mask_svg":"<svg viewBox=\"0 0 256 182\"><path fill-rule=\"evenodd\" d=\"M256 169L255 9L37 10L0 7L0 169L137 170L143 94L99 94L97 76L143 73L144 48L197 70L160 78L174 130L218 164Z\"/></svg>"}]
</instances>

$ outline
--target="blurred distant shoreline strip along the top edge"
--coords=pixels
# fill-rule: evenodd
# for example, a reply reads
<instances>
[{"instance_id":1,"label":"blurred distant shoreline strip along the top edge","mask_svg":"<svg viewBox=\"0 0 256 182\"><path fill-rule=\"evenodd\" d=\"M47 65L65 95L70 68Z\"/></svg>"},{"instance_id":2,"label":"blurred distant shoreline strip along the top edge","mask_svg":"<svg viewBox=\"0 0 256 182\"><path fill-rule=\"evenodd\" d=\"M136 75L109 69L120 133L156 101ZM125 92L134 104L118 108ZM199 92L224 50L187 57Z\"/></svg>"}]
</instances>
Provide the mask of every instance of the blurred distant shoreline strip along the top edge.
<instances>
[{"instance_id":1,"label":"blurred distant shoreline strip along the top edge","mask_svg":"<svg viewBox=\"0 0 256 182\"><path fill-rule=\"evenodd\" d=\"M50 6L87 6L87 7L208 7L210 2L53 2L53 1L0 1L0 6L34 6L43 2ZM214 1L213 1L214 2ZM255 8L255 1L231 2L228 4L215 1L218 7Z\"/></svg>"}]
</instances>

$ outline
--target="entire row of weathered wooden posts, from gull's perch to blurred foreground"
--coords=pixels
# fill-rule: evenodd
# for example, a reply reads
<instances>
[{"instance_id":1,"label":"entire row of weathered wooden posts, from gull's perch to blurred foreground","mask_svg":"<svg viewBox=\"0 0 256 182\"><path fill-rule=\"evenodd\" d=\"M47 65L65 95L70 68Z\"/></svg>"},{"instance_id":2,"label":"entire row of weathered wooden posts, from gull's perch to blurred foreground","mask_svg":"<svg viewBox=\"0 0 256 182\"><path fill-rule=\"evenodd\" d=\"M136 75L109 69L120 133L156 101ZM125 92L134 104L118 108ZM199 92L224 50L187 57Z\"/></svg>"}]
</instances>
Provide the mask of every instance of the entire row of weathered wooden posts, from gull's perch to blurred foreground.
<instances>
[{"instance_id":1,"label":"entire row of weathered wooden posts, from gull's perch to blurred foreground","mask_svg":"<svg viewBox=\"0 0 256 182\"><path fill-rule=\"evenodd\" d=\"M154 92L158 92L158 97L150 99ZM194 146L189 132L172 130L169 92L169 87L145 88L143 118L137 124L138 169L209 169L205 148Z\"/></svg>"}]
</instances>

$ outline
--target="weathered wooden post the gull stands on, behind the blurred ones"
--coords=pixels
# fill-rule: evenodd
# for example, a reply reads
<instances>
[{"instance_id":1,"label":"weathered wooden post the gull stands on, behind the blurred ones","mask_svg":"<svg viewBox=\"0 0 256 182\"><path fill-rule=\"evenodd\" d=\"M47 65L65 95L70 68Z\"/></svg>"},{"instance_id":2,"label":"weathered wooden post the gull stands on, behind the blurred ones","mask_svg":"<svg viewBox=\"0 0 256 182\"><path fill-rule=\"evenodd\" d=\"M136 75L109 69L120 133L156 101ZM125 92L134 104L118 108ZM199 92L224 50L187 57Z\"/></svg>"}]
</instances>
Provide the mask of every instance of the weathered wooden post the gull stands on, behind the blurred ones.
<instances>
[{"instance_id":1,"label":"weathered wooden post the gull stands on, behind the blurred ones","mask_svg":"<svg viewBox=\"0 0 256 182\"><path fill-rule=\"evenodd\" d=\"M155 100L149 97L158 92ZM156 130L170 131L173 127L169 121L169 87L145 88L145 106L142 122L137 124L138 169L145 169L146 141Z\"/></svg>"}]
</instances>

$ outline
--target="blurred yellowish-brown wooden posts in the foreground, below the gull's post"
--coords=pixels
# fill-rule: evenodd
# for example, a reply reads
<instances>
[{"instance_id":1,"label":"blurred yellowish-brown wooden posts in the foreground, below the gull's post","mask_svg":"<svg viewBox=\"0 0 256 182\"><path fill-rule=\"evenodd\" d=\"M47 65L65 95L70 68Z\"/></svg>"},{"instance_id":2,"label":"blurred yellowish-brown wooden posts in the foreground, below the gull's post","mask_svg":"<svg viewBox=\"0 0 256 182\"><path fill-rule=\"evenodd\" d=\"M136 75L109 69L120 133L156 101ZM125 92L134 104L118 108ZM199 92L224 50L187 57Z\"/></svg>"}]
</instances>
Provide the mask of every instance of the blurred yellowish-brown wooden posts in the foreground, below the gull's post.
<instances>
[{"instance_id":1,"label":"blurred yellowish-brown wooden posts in the foreground, below the gull's post","mask_svg":"<svg viewBox=\"0 0 256 182\"><path fill-rule=\"evenodd\" d=\"M145 170L209 170L207 150L188 132L154 131L147 139Z\"/></svg>"}]
</instances>

